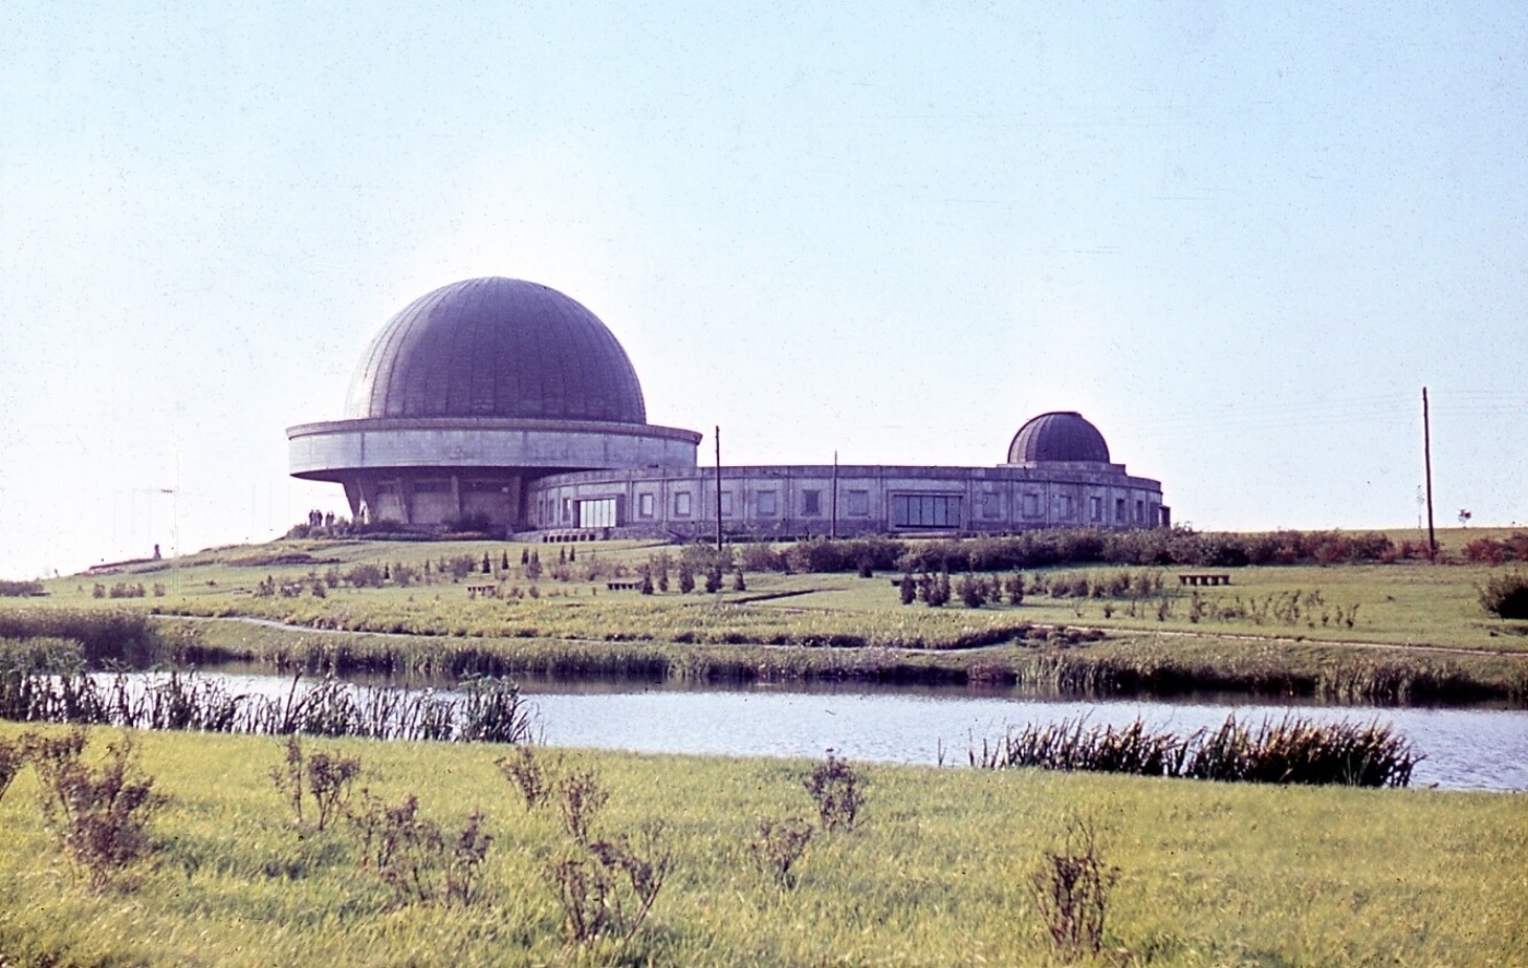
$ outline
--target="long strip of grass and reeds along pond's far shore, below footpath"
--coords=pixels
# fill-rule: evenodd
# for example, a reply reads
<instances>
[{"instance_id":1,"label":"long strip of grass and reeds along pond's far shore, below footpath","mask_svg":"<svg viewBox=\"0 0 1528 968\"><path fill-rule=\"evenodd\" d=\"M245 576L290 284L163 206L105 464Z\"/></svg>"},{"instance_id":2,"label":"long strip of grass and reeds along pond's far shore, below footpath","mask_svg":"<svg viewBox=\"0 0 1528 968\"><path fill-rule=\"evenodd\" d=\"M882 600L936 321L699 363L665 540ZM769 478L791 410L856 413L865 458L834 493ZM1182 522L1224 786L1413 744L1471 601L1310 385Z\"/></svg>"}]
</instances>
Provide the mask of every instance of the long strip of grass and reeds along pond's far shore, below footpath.
<instances>
[{"instance_id":1,"label":"long strip of grass and reeds along pond's far shore, below footpath","mask_svg":"<svg viewBox=\"0 0 1528 968\"><path fill-rule=\"evenodd\" d=\"M162 663L257 663L309 675L380 673L420 679L536 676L643 682L876 682L1018 687L1027 692L1174 696L1235 692L1331 702L1528 702L1528 664L1514 657L1369 657L1316 644L1071 641L1031 629L1010 647L981 650L811 649L541 638L315 634L162 620ZM1044 637L1042 637L1044 635Z\"/></svg>"}]
</instances>

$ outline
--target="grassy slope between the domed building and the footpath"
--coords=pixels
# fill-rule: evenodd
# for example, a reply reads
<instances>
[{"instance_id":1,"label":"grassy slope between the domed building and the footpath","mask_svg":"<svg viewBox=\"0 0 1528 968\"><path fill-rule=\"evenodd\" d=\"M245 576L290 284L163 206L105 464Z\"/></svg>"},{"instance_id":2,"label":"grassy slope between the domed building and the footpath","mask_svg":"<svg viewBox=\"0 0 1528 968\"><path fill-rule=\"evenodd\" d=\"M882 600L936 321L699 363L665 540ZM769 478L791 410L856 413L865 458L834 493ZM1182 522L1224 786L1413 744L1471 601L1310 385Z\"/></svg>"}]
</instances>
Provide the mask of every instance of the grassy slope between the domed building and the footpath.
<instances>
[{"instance_id":1,"label":"grassy slope between the domed building and the footpath","mask_svg":"<svg viewBox=\"0 0 1528 968\"><path fill-rule=\"evenodd\" d=\"M1455 531L1449 539L1484 531ZM521 553L542 556L539 579L527 579ZM1504 621L1479 605L1479 588L1504 568L1478 565L1287 565L1236 568L1229 588L1183 588L1178 571L1120 566L1051 568L1027 573L1028 582L1050 588L1088 579L1093 583L1128 574L1160 585L1137 602L1099 597L1056 597L1033 592L1022 606L989 603L931 609L903 606L888 573L872 579L853 574L747 573L747 591L680 594L677 580L666 594L639 595L605 589L610 579L631 579L654 554L678 551L636 542L582 545L575 562L558 563L556 545L501 542L274 542L206 551L177 562L128 568L124 574L72 576L46 582L49 603L128 605L171 614L254 615L283 623L371 632L452 637L536 637L652 641L793 641L811 637L859 635L877 646L949 646L987 629L1039 624L1085 624L1143 634L1213 634L1256 638L1319 640L1435 646L1482 652L1528 652L1528 623ZM487 554L494 576L480 565L461 580L432 573L434 583L399 588L350 588L339 582L324 599L312 595L315 580L345 574L358 563L422 573L426 560L449 562ZM500 565L509 560L509 570ZM1510 570L1507 566L1505 570ZM593 577L591 577L593 570ZM422 577L422 576L420 576ZM958 576L957 576L958 577ZM252 594L270 579L301 586L295 597ZM497 583L506 599L469 599L468 582ZM96 585L144 585L144 599L96 599ZM536 597L530 599L530 589ZM163 594L153 594L162 591ZM515 597L518 592L518 597ZM779 597L770 597L779 595ZM1297 599L1296 614L1287 608ZM1284 608L1280 608L1284 606Z\"/></svg>"}]
</instances>

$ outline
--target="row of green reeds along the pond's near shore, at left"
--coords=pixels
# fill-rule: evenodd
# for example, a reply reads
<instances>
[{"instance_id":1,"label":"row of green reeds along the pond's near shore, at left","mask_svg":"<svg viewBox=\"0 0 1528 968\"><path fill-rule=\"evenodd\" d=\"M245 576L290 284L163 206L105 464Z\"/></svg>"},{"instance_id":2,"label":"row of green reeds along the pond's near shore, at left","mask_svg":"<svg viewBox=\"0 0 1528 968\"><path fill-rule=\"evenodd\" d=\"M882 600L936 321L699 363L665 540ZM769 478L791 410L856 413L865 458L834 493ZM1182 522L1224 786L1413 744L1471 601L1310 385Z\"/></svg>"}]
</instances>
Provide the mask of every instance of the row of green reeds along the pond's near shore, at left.
<instances>
[{"instance_id":1,"label":"row of green reeds along the pond's near shore, at left","mask_svg":"<svg viewBox=\"0 0 1528 968\"><path fill-rule=\"evenodd\" d=\"M359 736L460 742L523 742L532 713L506 679L468 679L458 695L358 689L325 676L286 696L235 693L196 672L93 676L14 667L0 670L0 719L139 730L284 736Z\"/></svg>"}]
</instances>

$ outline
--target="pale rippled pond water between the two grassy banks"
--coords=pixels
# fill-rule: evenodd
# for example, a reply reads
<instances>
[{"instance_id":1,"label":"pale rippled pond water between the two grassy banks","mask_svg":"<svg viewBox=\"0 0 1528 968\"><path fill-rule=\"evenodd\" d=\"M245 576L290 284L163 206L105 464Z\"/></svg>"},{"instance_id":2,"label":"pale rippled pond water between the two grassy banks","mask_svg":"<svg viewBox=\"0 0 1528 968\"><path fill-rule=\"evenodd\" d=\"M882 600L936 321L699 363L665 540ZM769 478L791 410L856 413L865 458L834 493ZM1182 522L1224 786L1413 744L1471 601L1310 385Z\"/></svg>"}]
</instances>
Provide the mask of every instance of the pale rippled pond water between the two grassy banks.
<instances>
[{"instance_id":1,"label":"pale rippled pond water between the two grassy banks","mask_svg":"<svg viewBox=\"0 0 1528 968\"><path fill-rule=\"evenodd\" d=\"M228 675L235 692L286 695L292 679ZM362 686L358 686L362 689ZM964 690L847 687L685 689L662 686L567 686L527 682L536 731L553 747L640 753L821 757L834 750L851 760L966 765L972 747L1008 727L1086 716L1089 724L1126 725L1137 718L1158 730L1189 734L1235 713L1244 724L1297 715L1316 721L1378 721L1426 759L1412 786L1528 791L1528 711L1491 708L1339 707L1238 702L1227 696L1189 701L1091 701Z\"/></svg>"}]
</instances>

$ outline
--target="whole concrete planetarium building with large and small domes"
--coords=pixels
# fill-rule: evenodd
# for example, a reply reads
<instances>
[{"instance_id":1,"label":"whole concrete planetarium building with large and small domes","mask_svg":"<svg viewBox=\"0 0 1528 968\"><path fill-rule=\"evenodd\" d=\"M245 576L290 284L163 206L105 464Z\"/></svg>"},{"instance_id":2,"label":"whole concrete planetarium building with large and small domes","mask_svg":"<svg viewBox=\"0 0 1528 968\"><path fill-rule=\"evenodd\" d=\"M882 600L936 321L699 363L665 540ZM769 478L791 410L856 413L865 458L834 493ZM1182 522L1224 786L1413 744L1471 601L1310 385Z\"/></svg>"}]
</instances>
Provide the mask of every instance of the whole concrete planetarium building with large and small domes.
<instances>
[{"instance_id":1,"label":"whole concrete planetarium building with large and small domes","mask_svg":"<svg viewBox=\"0 0 1528 968\"><path fill-rule=\"evenodd\" d=\"M344 420L287 429L292 475L358 521L545 537L1005 533L1170 524L1161 484L1076 412L1041 414L992 467L701 467L700 434L648 423L620 344L562 293L455 282L393 316Z\"/></svg>"}]
</instances>

